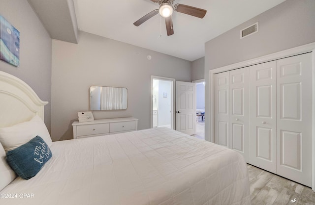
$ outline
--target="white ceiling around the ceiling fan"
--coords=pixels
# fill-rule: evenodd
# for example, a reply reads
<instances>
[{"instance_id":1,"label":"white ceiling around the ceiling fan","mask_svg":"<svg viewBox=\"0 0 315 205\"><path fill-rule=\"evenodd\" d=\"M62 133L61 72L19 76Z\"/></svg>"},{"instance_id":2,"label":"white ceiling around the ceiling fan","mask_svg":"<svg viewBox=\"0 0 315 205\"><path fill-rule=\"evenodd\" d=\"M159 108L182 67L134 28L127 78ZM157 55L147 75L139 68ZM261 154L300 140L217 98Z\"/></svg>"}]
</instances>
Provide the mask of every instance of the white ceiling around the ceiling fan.
<instances>
[{"instance_id":1,"label":"white ceiling around the ceiling fan","mask_svg":"<svg viewBox=\"0 0 315 205\"><path fill-rule=\"evenodd\" d=\"M156 15L140 26L133 23L158 9L151 0L74 0L79 30L162 52L189 61L204 56L205 42L238 26L284 0L175 0L207 10L203 19L173 13L174 34ZM250 26L250 25L248 25Z\"/></svg>"}]
</instances>

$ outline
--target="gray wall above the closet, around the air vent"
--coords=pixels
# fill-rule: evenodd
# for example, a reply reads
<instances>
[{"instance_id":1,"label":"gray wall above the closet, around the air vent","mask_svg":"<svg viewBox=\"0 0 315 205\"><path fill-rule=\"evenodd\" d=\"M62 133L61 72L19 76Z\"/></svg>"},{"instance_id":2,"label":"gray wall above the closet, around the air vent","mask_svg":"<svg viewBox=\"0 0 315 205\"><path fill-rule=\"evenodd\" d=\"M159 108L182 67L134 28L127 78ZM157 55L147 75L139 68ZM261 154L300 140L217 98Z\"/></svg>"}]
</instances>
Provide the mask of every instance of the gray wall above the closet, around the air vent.
<instances>
[{"instance_id":1,"label":"gray wall above the closet, around the air vent","mask_svg":"<svg viewBox=\"0 0 315 205\"><path fill-rule=\"evenodd\" d=\"M259 32L240 39L240 30L259 22ZM315 42L315 0L286 0L205 44L205 81L209 70ZM206 93L206 125L209 86ZM205 139L209 140L209 126Z\"/></svg>"}]
</instances>

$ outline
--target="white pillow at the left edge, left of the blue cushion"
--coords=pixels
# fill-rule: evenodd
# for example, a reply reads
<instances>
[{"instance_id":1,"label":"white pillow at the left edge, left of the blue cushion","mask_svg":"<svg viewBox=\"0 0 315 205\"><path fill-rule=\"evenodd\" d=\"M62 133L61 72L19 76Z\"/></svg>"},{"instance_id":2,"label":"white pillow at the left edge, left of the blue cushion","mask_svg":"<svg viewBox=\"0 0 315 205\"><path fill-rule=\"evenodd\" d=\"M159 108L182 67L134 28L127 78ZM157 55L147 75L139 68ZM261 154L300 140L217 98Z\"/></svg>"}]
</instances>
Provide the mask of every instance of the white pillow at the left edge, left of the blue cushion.
<instances>
[{"instance_id":1,"label":"white pillow at the left edge, left of the blue cushion","mask_svg":"<svg viewBox=\"0 0 315 205\"><path fill-rule=\"evenodd\" d=\"M0 190L16 178L15 172L5 160L5 151L0 144Z\"/></svg>"}]
</instances>

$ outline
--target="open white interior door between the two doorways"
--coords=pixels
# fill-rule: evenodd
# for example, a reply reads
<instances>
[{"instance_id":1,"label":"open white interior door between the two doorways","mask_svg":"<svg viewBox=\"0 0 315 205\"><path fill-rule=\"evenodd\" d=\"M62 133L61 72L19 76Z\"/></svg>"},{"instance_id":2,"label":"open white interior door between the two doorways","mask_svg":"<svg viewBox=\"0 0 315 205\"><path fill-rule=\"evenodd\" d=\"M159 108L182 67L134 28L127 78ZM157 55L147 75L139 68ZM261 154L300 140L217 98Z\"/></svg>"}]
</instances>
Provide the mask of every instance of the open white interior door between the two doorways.
<instances>
[{"instance_id":1,"label":"open white interior door between the two doorways","mask_svg":"<svg viewBox=\"0 0 315 205\"><path fill-rule=\"evenodd\" d=\"M196 85L194 82L176 81L176 130L195 134Z\"/></svg>"}]
</instances>

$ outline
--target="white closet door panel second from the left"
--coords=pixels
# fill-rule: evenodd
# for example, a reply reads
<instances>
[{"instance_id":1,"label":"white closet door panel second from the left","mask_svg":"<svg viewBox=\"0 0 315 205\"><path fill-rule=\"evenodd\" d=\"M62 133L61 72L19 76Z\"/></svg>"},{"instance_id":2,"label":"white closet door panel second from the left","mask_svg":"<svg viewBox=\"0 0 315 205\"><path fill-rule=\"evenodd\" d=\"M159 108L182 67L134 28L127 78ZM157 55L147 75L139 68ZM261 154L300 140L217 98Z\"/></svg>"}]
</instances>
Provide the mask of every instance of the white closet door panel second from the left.
<instances>
[{"instance_id":1,"label":"white closet door panel second from the left","mask_svg":"<svg viewBox=\"0 0 315 205\"><path fill-rule=\"evenodd\" d=\"M249 160L249 68L230 71L230 148Z\"/></svg>"}]
</instances>

